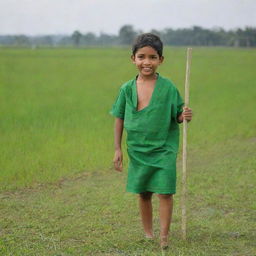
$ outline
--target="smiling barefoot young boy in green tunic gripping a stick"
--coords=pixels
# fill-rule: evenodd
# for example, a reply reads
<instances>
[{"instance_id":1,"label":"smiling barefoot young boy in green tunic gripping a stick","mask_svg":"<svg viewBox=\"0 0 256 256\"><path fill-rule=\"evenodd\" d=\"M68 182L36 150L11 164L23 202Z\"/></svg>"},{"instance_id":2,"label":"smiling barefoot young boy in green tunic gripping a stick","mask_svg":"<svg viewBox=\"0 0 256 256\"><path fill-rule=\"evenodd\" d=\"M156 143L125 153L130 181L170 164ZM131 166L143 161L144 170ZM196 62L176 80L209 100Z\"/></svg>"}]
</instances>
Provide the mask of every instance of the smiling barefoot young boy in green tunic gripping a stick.
<instances>
[{"instance_id":1,"label":"smiling barefoot young boy in green tunic gripping a stick","mask_svg":"<svg viewBox=\"0 0 256 256\"><path fill-rule=\"evenodd\" d=\"M153 238L152 194L160 199L160 245L168 247L173 197L176 192L176 156L179 126L192 119L183 108L177 88L156 70L163 62L160 38L147 33L137 37L132 62L139 74L121 86L111 113L115 119L114 166L122 171L121 139L127 131L129 156L126 190L139 194L139 206L146 238Z\"/></svg>"}]
</instances>

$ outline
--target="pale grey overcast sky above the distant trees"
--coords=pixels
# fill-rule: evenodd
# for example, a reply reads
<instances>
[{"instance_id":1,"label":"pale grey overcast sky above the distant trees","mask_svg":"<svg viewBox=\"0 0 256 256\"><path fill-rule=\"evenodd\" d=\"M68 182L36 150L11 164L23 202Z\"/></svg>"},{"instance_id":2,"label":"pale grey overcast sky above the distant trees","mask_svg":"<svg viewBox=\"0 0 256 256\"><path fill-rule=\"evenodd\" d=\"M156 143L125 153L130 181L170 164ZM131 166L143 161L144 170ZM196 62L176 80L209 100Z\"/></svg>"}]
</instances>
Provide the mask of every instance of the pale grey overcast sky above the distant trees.
<instances>
[{"instance_id":1,"label":"pale grey overcast sky above the distant trees","mask_svg":"<svg viewBox=\"0 0 256 256\"><path fill-rule=\"evenodd\" d=\"M0 0L0 34L256 27L256 0Z\"/></svg>"}]
</instances>

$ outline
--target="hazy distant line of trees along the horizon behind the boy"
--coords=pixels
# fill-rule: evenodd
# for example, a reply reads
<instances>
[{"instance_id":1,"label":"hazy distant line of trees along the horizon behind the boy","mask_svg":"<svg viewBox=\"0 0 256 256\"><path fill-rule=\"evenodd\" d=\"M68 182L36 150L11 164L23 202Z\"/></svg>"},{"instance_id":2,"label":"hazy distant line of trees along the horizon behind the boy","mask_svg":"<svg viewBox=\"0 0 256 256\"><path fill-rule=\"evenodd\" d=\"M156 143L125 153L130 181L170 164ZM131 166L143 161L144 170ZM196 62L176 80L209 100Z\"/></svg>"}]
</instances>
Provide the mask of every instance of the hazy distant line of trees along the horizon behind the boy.
<instances>
[{"instance_id":1,"label":"hazy distant line of trees along the horizon behind the boy","mask_svg":"<svg viewBox=\"0 0 256 256\"><path fill-rule=\"evenodd\" d=\"M165 45L173 46L231 46L255 47L256 28L245 27L233 30L223 28L206 29L199 26L191 28L151 30L161 37ZM11 47L86 47L130 45L143 31L137 31L132 25L124 25L117 35L92 32L81 33L76 30L71 35L2 35L0 46Z\"/></svg>"}]
</instances>

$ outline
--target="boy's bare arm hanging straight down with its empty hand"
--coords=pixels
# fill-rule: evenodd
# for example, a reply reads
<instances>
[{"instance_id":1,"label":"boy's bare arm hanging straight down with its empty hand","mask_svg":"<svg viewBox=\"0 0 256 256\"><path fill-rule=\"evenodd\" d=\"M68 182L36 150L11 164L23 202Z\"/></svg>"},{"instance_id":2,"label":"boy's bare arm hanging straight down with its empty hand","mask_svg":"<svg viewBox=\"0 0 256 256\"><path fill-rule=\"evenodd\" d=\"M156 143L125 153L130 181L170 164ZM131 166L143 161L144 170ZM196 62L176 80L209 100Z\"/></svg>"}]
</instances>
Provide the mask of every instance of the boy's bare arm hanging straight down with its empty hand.
<instances>
[{"instance_id":1,"label":"boy's bare arm hanging straight down with its empty hand","mask_svg":"<svg viewBox=\"0 0 256 256\"><path fill-rule=\"evenodd\" d=\"M115 142L115 156L113 159L114 167L117 171L122 171L123 168L123 153L122 153L122 135L124 129L124 120L120 118L115 119L114 142Z\"/></svg>"}]
</instances>

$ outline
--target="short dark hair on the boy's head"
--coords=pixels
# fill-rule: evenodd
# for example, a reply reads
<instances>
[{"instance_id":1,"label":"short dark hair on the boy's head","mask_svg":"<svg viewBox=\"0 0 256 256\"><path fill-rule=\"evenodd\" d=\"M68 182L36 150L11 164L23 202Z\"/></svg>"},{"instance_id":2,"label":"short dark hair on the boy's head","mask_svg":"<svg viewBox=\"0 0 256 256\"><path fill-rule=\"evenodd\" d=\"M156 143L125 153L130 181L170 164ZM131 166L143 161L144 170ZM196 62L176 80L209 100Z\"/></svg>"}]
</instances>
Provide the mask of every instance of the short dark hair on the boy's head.
<instances>
[{"instance_id":1,"label":"short dark hair on the boy's head","mask_svg":"<svg viewBox=\"0 0 256 256\"><path fill-rule=\"evenodd\" d=\"M132 46L132 55L135 56L136 52L143 47L150 46L155 49L159 55L162 57L163 55L163 43L161 39L152 33L145 33L139 35Z\"/></svg>"}]
</instances>

